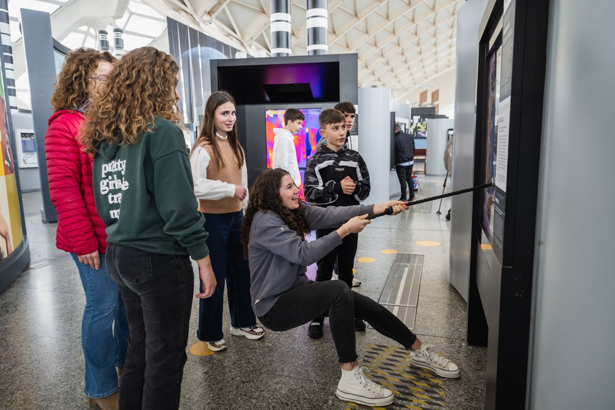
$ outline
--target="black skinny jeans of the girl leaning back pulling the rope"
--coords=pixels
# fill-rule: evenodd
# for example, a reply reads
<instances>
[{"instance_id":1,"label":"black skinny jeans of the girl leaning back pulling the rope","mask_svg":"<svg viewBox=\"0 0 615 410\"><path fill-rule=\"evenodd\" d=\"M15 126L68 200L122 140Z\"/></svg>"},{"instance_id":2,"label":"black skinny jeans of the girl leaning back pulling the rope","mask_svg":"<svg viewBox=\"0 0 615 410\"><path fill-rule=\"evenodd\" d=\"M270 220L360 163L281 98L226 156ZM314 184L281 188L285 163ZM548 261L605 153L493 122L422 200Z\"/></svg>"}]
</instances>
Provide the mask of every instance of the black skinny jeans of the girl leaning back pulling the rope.
<instances>
[{"instance_id":1,"label":"black skinny jeans of the girl leaning back pulling the rope","mask_svg":"<svg viewBox=\"0 0 615 410\"><path fill-rule=\"evenodd\" d=\"M415 334L393 313L367 296L350 290L341 280L312 282L290 290L259 319L272 331L285 331L319 316L329 317L339 363L351 363L357 358L354 318L367 321L378 333L406 349L416 341Z\"/></svg>"}]
</instances>

